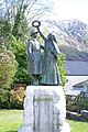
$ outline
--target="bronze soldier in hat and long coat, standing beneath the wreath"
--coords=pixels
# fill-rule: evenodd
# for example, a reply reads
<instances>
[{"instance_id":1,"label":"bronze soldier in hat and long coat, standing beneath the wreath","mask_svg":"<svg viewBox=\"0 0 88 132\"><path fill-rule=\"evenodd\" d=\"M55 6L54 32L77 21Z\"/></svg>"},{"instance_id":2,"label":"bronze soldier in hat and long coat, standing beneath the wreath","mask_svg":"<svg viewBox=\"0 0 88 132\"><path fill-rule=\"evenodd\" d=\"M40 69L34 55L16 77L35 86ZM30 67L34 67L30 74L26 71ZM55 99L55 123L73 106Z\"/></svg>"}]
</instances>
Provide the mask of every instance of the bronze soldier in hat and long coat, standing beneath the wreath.
<instances>
[{"instance_id":1,"label":"bronze soldier in hat and long coat, standing beneath the wreath","mask_svg":"<svg viewBox=\"0 0 88 132\"><path fill-rule=\"evenodd\" d=\"M31 40L28 40L28 74L32 77L32 85L38 85L42 74L41 43L37 41L37 29L31 29Z\"/></svg>"}]
</instances>

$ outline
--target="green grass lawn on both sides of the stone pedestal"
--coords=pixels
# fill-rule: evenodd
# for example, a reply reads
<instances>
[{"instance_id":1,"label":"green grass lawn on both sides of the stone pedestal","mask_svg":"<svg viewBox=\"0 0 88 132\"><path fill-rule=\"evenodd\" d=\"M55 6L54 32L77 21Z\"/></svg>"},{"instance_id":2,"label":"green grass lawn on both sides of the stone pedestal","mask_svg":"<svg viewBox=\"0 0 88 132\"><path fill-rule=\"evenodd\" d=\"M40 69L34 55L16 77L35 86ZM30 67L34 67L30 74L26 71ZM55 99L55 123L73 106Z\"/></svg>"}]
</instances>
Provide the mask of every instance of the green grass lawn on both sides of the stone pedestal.
<instances>
[{"instance_id":1,"label":"green grass lawn on both sides of the stone pedestal","mask_svg":"<svg viewBox=\"0 0 88 132\"><path fill-rule=\"evenodd\" d=\"M23 122L22 110L0 110L0 132L18 132ZM70 132L88 132L87 122L67 120Z\"/></svg>"}]
</instances>

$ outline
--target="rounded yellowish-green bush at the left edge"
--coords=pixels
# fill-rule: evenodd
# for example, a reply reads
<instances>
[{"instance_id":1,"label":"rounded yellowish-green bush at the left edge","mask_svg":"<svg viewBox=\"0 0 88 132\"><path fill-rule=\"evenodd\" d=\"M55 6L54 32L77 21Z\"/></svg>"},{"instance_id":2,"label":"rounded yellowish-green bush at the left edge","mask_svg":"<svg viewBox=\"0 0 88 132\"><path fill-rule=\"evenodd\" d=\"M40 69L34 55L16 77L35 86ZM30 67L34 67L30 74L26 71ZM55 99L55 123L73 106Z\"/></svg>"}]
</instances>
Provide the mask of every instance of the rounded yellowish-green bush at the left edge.
<instances>
[{"instance_id":1,"label":"rounded yellowish-green bush at the left edge","mask_svg":"<svg viewBox=\"0 0 88 132\"><path fill-rule=\"evenodd\" d=\"M9 88L16 70L12 52L0 48L0 88Z\"/></svg>"}]
</instances>

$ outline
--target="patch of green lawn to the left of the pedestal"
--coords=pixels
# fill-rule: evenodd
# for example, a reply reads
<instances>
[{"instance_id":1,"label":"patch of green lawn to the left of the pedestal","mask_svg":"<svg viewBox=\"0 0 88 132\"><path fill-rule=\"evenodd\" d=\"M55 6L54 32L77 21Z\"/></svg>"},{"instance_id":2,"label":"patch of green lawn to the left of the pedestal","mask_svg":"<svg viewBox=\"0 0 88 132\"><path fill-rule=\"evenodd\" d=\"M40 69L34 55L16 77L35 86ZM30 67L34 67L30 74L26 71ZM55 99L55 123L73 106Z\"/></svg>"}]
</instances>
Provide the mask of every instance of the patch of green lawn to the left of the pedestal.
<instances>
[{"instance_id":1,"label":"patch of green lawn to the left of the pedestal","mask_svg":"<svg viewBox=\"0 0 88 132\"><path fill-rule=\"evenodd\" d=\"M22 121L22 110L0 110L0 132L18 132Z\"/></svg>"}]
</instances>

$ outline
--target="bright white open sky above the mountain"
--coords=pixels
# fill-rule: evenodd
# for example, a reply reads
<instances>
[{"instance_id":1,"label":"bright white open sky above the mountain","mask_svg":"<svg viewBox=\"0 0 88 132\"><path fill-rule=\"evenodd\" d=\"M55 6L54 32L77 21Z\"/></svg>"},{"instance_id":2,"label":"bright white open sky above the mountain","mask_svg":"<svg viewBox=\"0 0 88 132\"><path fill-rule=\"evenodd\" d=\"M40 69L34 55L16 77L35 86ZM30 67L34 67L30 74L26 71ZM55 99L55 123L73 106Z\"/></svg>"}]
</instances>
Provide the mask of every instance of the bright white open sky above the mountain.
<instances>
[{"instance_id":1,"label":"bright white open sky above the mountain","mask_svg":"<svg viewBox=\"0 0 88 132\"><path fill-rule=\"evenodd\" d=\"M53 0L54 20L77 19L88 24L88 0Z\"/></svg>"}]
</instances>

